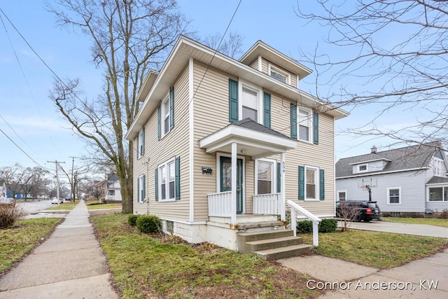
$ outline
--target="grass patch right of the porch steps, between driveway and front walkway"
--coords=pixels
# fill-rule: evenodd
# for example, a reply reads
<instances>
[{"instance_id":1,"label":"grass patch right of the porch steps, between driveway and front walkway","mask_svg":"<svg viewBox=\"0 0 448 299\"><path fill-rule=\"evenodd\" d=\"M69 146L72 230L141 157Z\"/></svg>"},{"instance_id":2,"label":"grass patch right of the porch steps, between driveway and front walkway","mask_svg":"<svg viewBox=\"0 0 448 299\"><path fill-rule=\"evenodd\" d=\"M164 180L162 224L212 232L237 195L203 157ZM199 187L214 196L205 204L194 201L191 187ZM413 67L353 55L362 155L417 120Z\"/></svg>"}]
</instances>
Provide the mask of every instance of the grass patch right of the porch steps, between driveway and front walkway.
<instances>
[{"instance_id":1,"label":"grass patch right of the porch steps, between driveway and front walkway","mask_svg":"<svg viewBox=\"0 0 448 299\"><path fill-rule=\"evenodd\" d=\"M300 235L312 244L312 234ZM349 230L319 234L316 253L380 269L395 267L448 248L448 239Z\"/></svg>"}]
</instances>

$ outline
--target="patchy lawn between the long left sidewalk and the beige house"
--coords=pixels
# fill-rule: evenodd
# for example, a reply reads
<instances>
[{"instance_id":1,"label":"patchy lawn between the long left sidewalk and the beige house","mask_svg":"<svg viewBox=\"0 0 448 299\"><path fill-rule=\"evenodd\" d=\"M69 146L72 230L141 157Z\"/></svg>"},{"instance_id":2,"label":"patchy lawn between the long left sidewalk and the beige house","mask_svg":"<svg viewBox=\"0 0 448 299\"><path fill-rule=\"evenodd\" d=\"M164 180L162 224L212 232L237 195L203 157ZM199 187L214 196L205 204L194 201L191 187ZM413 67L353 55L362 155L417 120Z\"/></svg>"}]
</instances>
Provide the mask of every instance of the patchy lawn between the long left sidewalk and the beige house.
<instances>
[{"instance_id":1,"label":"patchy lawn between the long left sidewalk and the beige house","mask_svg":"<svg viewBox=\"0 0 448 299\"><path fill-rule=\"evenodd\" d=\"M123 298L315 298L309 279L249 254L145 235L127 215L91 218ZM180 243L180 244L175 244Z\"/></svg>"}]
</instances>

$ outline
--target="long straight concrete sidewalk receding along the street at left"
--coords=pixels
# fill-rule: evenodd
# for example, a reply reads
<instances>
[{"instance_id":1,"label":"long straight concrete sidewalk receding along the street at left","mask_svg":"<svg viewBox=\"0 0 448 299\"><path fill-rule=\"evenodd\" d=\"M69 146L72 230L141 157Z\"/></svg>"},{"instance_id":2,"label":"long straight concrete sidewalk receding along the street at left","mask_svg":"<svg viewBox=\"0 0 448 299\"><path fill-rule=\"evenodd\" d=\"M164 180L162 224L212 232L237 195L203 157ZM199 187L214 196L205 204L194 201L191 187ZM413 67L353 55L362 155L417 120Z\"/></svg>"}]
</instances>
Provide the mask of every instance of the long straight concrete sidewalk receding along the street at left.
<instances>
[{"instance_id":1,"label":"long straight concrete sidewalk receding along the street at left","mask_svg":"<svg viewBox=\"0 0 448 299\"><path fill-rule=\"evenodd\" d=\"M0 277L0 299L118 298L84 201L55 232Z\"/></svg>"}]
</instances>

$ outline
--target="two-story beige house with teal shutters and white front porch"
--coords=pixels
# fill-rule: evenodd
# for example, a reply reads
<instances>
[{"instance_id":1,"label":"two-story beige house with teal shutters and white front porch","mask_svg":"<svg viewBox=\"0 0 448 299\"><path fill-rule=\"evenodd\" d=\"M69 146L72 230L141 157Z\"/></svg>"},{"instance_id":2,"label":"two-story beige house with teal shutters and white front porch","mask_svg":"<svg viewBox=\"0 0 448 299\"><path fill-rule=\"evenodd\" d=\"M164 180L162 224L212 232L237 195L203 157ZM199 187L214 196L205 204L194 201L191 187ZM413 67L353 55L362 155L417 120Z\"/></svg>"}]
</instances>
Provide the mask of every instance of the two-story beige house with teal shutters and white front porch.
<instances>
[{"instance_id":1,"label":"two-story beige house with teal shutters and white front porch","mask_svg":"<svg viewBox=\"0 0 448 299\"><path fill-rule=\"evenodd\" d=\"M234 250L241 230L285 221L286 200L334 216L334 126L348 113L297 88L310 73L261 41L234 60L181 36L126 135L134 214Z\"/></svg>"}]
</instances>

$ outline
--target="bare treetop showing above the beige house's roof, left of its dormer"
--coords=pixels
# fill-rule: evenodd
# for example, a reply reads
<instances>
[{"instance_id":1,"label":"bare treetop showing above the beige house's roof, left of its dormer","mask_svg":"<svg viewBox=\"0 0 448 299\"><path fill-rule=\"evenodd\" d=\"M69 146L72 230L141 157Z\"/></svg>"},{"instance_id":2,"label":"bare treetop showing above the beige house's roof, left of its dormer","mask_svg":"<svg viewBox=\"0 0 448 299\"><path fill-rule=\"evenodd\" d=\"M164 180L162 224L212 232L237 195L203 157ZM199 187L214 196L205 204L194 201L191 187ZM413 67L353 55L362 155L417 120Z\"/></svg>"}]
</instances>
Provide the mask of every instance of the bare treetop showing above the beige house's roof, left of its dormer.
<instances>
[{"instance_id":1,"label":"bare treetop showing above the beige house's roof, left of its dormer","mask_svg":"<svg viewBox=\"0 0 448 299\"><path fill-rule=\"evenodd\" d=\"M230 33L225 39L223 39L223 34L216 33L215 35L205 36L202 39L202 43L225 55L237 58L237 55L242 54L241 47L243 46L243 40L243 37L236 32Z\"/></svg>"}]
</instances>

